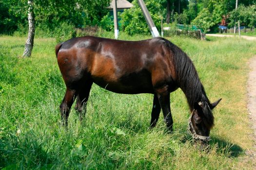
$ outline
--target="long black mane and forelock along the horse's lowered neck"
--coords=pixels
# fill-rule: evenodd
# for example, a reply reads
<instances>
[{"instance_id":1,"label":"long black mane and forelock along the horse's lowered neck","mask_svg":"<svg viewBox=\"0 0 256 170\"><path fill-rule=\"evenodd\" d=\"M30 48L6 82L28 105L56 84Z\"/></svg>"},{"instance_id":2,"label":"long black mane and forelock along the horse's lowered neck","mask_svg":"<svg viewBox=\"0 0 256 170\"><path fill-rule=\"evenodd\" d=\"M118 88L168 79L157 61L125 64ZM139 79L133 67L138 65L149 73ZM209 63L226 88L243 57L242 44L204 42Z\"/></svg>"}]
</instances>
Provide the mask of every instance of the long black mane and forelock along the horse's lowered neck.
<instances>
[{"instance_id":1,"label":"long black mane and forelock along the horse's lowered neck","mask_svg":"<svg viewBox=\"0 0 256 170\"><path fill-rule=\"evenodd\" d=\"M158 39L163 41L166 48L173 54L171 57L176 70L177 85L184 92L190 110L192 111L198 102L207 102L210 106L211 103L206 96L204 87L200 82L197 70L191 59L172 42L160 37ZM211 128L214 125L214 117L211 110L208 109L203 114L205 125Z\"/></svg>"}]
</instances>

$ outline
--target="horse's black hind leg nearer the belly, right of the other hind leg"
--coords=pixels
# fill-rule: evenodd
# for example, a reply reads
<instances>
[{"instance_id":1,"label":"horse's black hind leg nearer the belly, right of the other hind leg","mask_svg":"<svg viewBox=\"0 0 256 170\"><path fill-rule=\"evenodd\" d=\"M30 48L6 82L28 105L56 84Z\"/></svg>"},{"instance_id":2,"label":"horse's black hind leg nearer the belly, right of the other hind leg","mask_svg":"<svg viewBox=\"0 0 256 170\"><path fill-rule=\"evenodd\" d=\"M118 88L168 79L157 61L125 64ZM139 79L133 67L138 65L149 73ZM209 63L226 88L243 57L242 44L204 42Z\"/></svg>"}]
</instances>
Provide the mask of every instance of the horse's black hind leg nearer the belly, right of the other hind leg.
<instances>
[{"instance_id":1,"label":"horse's black hind leg nearer the belly, right of the other hind leg","mask_svg":"<svg viewBox=\"0 0 256 170\"><path fill-rule=\"evenodd\" d=\"M82 86L78 92L77 104L75 106L75 109L79 113L80 121L83 119L83 117L86 114L86 105L87 105L92 84L93 84L92 81L86 81L86 84Z\"/></svg>"}]
</instances>

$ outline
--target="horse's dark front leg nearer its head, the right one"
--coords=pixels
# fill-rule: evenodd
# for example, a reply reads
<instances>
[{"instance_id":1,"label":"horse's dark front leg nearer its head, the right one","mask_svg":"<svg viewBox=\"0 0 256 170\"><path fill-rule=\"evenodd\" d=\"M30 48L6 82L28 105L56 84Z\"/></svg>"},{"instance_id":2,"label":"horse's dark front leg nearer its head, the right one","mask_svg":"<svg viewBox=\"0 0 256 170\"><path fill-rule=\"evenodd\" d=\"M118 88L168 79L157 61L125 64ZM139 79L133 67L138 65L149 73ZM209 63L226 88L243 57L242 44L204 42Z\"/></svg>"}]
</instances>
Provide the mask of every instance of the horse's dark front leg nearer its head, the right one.
<instances>
[{"instance_id":1,"label":"horse's dark front leg nearer its head, the right one","mask_svg":"<svg viewBox=\"0 0 256 170\"><path fill-rule=\"evenodd\" d=\"M158 100L160 106L163 111L163 118L166 126L170 132L173 131L173 118L171 114L171 107L170 107L170 93L168 91L168 86L165 85L162 88L156 90L158 95Z\"/></svg>"}]
</instances>

